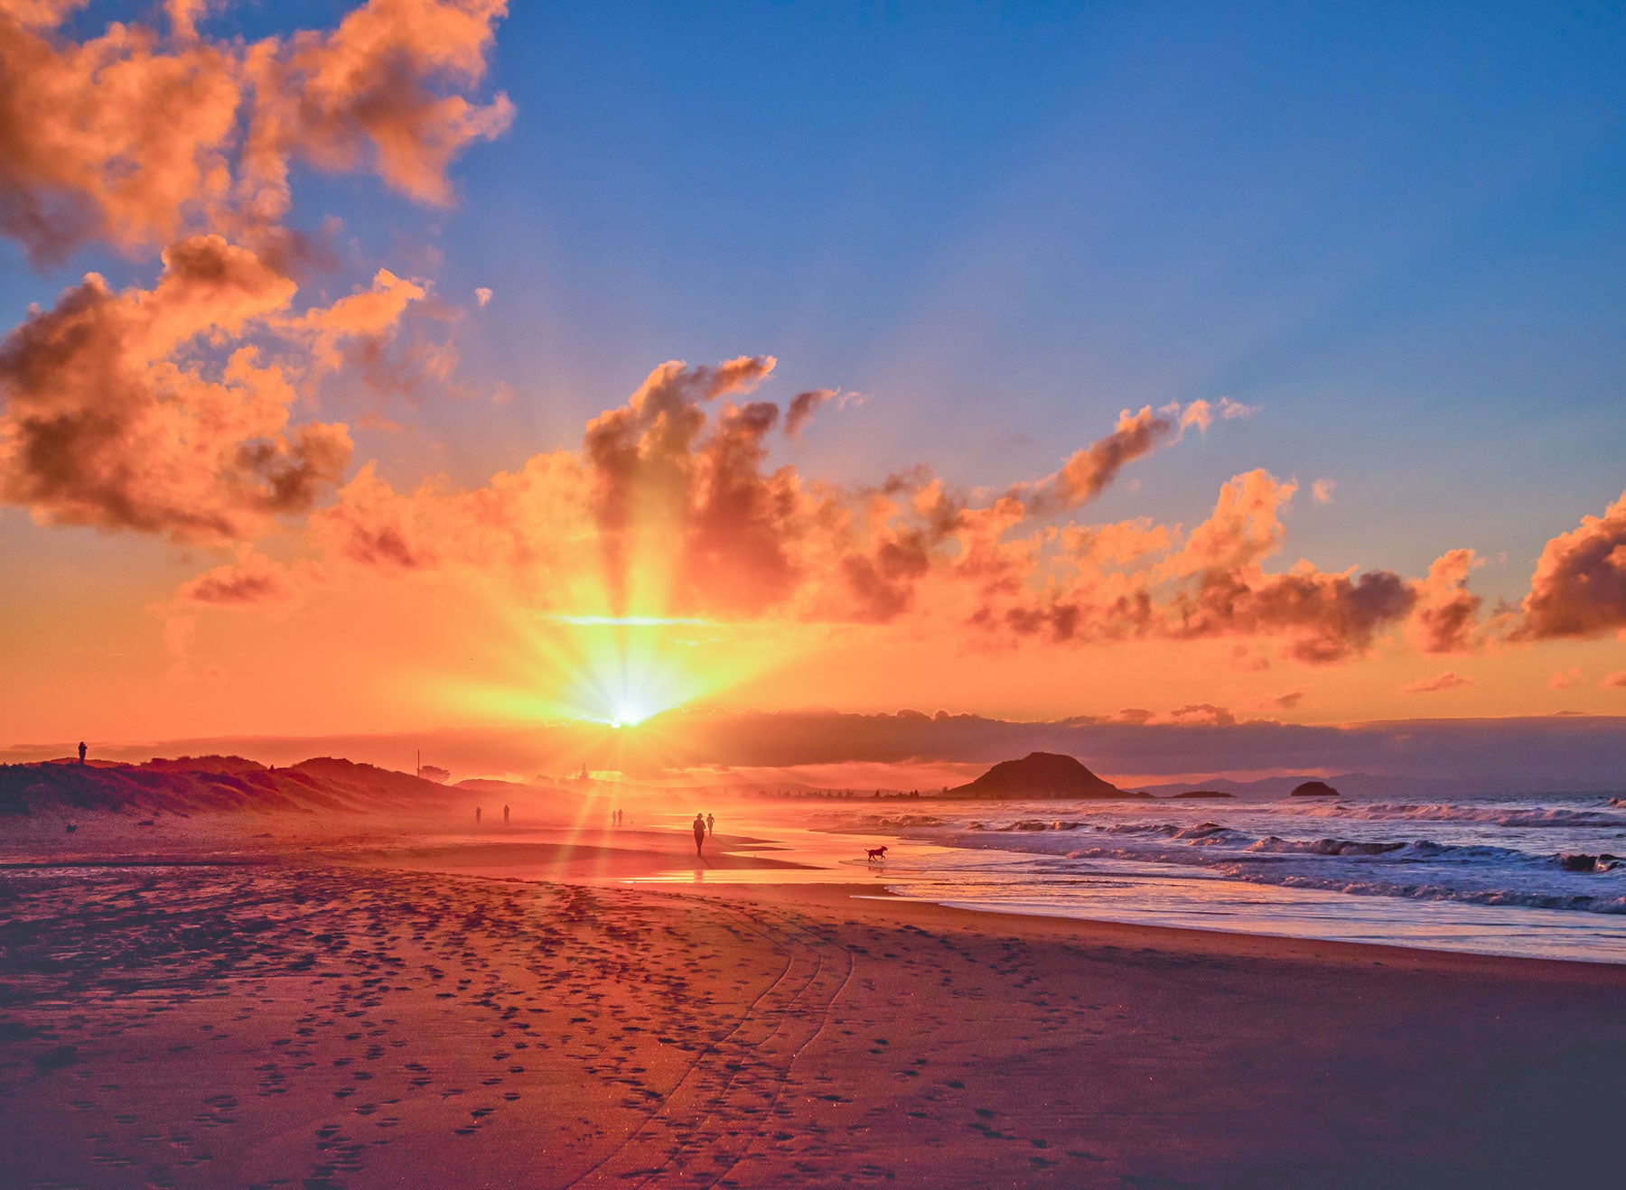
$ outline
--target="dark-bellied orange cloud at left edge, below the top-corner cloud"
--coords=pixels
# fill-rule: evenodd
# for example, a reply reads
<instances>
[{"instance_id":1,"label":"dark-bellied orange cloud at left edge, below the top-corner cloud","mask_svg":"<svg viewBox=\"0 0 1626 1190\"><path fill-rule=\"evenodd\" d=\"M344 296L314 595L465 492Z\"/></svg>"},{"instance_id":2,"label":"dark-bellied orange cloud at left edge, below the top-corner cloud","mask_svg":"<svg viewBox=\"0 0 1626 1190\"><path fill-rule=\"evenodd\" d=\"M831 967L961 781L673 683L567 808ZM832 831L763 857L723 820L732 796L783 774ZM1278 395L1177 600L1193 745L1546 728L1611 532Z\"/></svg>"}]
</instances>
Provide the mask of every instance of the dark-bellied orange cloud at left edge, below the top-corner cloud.
<instances>
[{"instance_id":1,"label":"dark-bellied orange cloud at left edge, below the top-corner cloud","mask_svg":"<svg viewBox=\"0 0 1626 1190\"><path fill-rule=\"evenodd\" d=\"M89 273L0 341L0 499L42 523L254 536L337 483L350 432L291 424L291 377L252 345L189 354L276 315L293 281L218 236L163 260L153 289Z\"/></svg>"}]
</instances>

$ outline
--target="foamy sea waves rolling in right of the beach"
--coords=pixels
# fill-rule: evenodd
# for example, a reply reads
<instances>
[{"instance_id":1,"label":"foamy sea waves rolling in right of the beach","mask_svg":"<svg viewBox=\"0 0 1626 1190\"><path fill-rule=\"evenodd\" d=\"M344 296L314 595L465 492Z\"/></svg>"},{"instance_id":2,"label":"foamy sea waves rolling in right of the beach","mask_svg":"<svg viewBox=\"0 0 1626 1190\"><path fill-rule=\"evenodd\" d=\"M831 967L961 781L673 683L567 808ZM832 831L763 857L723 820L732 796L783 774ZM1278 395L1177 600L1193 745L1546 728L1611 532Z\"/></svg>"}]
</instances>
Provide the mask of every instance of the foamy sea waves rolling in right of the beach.
<instances>
[{"instance_id":1,"label":"foamy sea waves rolling in right of the beach","mask_svg":"<svg viewBox=\"0 0 1626 1190\"><path fill-rule=\"evenodd\" d=\"M1202 930L1626 962L1626 798L920 803L888 891Z\"/></svg>"}]
</instances>

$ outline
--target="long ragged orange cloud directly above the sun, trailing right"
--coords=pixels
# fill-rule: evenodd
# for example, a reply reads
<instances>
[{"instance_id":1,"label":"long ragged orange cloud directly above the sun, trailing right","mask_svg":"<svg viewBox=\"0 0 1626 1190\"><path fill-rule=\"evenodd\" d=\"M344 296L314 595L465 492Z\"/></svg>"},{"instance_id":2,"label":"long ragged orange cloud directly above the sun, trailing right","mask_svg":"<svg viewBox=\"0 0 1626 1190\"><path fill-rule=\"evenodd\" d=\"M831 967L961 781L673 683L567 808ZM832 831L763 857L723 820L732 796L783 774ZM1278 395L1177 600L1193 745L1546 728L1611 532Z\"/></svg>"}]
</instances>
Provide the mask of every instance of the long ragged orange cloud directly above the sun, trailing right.
<instances>
[{"instance_id":1,"label":"long ragged orange cloud directly above the sun, trailing right","mask_svg":"<svg viewBox=\"0 0 1626 1190\"><path fill-rule=\"evenodd\" d=\"M610 615L907 618L969 626L990 644L1233 636L1250 668L1268 662L1249 639L1307 663L1356 657L1424 585L1307 562L1265 571L1296 491L1267 471L1226 483L1190 533L1150 519L1047 525L1031 497L1055 476L985 502L927 468L873 484L810 480L776 465L782 411L751 398L772 366L663 364L589 423L580 450L537 455L483 488L402 493L364 467L311 517L311 541L324 566L377 575L535 577L546 558L546 582L527 582L525 598ZM1075 457L1132 455L1125 441L1148 418L1125 415L1109 445Z\"/></svg>"}]
</instances>

